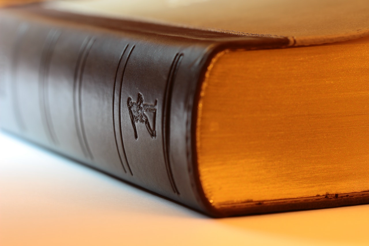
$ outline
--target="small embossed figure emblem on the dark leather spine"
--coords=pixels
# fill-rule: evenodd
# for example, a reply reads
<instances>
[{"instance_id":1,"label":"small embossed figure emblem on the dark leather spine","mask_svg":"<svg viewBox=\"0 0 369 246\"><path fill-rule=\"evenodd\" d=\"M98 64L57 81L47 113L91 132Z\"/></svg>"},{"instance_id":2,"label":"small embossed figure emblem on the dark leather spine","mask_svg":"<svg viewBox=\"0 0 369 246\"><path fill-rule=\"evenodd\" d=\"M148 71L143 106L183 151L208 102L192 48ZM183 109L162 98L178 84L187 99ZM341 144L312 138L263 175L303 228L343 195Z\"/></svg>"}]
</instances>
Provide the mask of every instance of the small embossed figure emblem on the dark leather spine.
<instances>
[{"instance_id":1,"label":"small embossed figure emblem on the dark leather spine","mask_svg":"<svg viewBox=\"0 0 369 246\"><path fill-rule=\"evenodd\" d=\"M155 130L155 121L156 121L156 103L155 100L154 104L149 104L144 102L144 96L141 93L138 93L137 101L134 102L132 98L128 98L127 106L130 110L130 117L132 122L132 127L135 134L135 139L138 139L136 123L141 122L144 123L146 129L148 130L150 136L154 139L156 137L156 130ZM147 117L146 113L152 113L153 120L152 126L150 124L149 118Z\"/></svg>"}]
</instances>

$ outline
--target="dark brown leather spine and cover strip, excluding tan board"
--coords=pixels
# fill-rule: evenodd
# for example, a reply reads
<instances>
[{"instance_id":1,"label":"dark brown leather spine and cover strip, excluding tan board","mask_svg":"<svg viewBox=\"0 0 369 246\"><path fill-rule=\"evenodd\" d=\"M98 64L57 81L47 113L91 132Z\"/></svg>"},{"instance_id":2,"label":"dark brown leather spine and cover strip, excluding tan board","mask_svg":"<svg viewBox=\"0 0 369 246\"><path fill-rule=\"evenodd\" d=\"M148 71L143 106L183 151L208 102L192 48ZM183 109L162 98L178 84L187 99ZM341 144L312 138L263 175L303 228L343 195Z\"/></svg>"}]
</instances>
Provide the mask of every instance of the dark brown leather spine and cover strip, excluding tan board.
<instances>
[{"instance_id":1,"label":"dark brown leather spine and cover strip, excluding tan board","mask_svg":"<svg viewBox=\"0 0 369 246\"><path fill-rule=\"evenodd\" d=\"M4 8L0 21L4 130L209 215L245 213L215 211L201 191L194 137L200 82L224 49L282 48L289 38L89 17L39 5ZM364 198L343 204L358 199ZM248 213L326 203L282 202Z\"/></svg>"}]
</instances>

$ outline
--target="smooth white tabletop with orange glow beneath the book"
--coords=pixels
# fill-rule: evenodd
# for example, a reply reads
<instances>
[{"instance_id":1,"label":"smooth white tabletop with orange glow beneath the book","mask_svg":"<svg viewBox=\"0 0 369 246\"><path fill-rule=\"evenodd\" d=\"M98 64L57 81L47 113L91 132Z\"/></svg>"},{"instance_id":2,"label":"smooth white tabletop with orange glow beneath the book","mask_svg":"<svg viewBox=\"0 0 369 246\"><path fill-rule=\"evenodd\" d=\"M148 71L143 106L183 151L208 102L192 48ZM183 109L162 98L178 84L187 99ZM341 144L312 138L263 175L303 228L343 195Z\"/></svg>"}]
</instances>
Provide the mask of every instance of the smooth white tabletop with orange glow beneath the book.
<instances>
[{"instance_id":1,"label":"smooth white tabletop with orange glow beneath the book","mask_svg":"<svg viewBox=\"0 0 369 246\"><path fill-rule=\"evenodd\" d=\"M213 219L0 133L0 245L369 245L369 205Z\"/></svg>"}]
</instances>

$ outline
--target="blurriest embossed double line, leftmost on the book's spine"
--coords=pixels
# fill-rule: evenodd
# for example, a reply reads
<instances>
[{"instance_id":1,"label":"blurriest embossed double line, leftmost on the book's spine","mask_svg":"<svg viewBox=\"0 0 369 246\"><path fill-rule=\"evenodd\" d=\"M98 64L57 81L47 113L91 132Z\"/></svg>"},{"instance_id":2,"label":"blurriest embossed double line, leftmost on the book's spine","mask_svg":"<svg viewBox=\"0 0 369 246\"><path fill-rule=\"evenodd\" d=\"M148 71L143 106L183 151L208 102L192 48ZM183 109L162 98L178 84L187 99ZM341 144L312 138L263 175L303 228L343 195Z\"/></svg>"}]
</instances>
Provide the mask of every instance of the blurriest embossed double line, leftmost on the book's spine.
<instances>
[{"instance_id":1,"label":"blurriest embossed double line, leftmost on the book's spine","mask_svg":"<svg viewBox=\"0 0 369 246\"><path fill-rule=\"evenodd\" d=\"M20 55L20 46L24 42L24 36L27 33L28 25L22 23L19 25L17 30L17 37L15 40L14 48L13 48L13 61L11 64L11 98L12 98L12 105L13 105L13 112L15 116L15 122L17 122L18 128L21 131L25 131L25 124L23 118L21 116L21 110L19 106L19 98L18 98L18 82L17 82L17 65L18 59Z\"/></svg>"}]
</instances>

